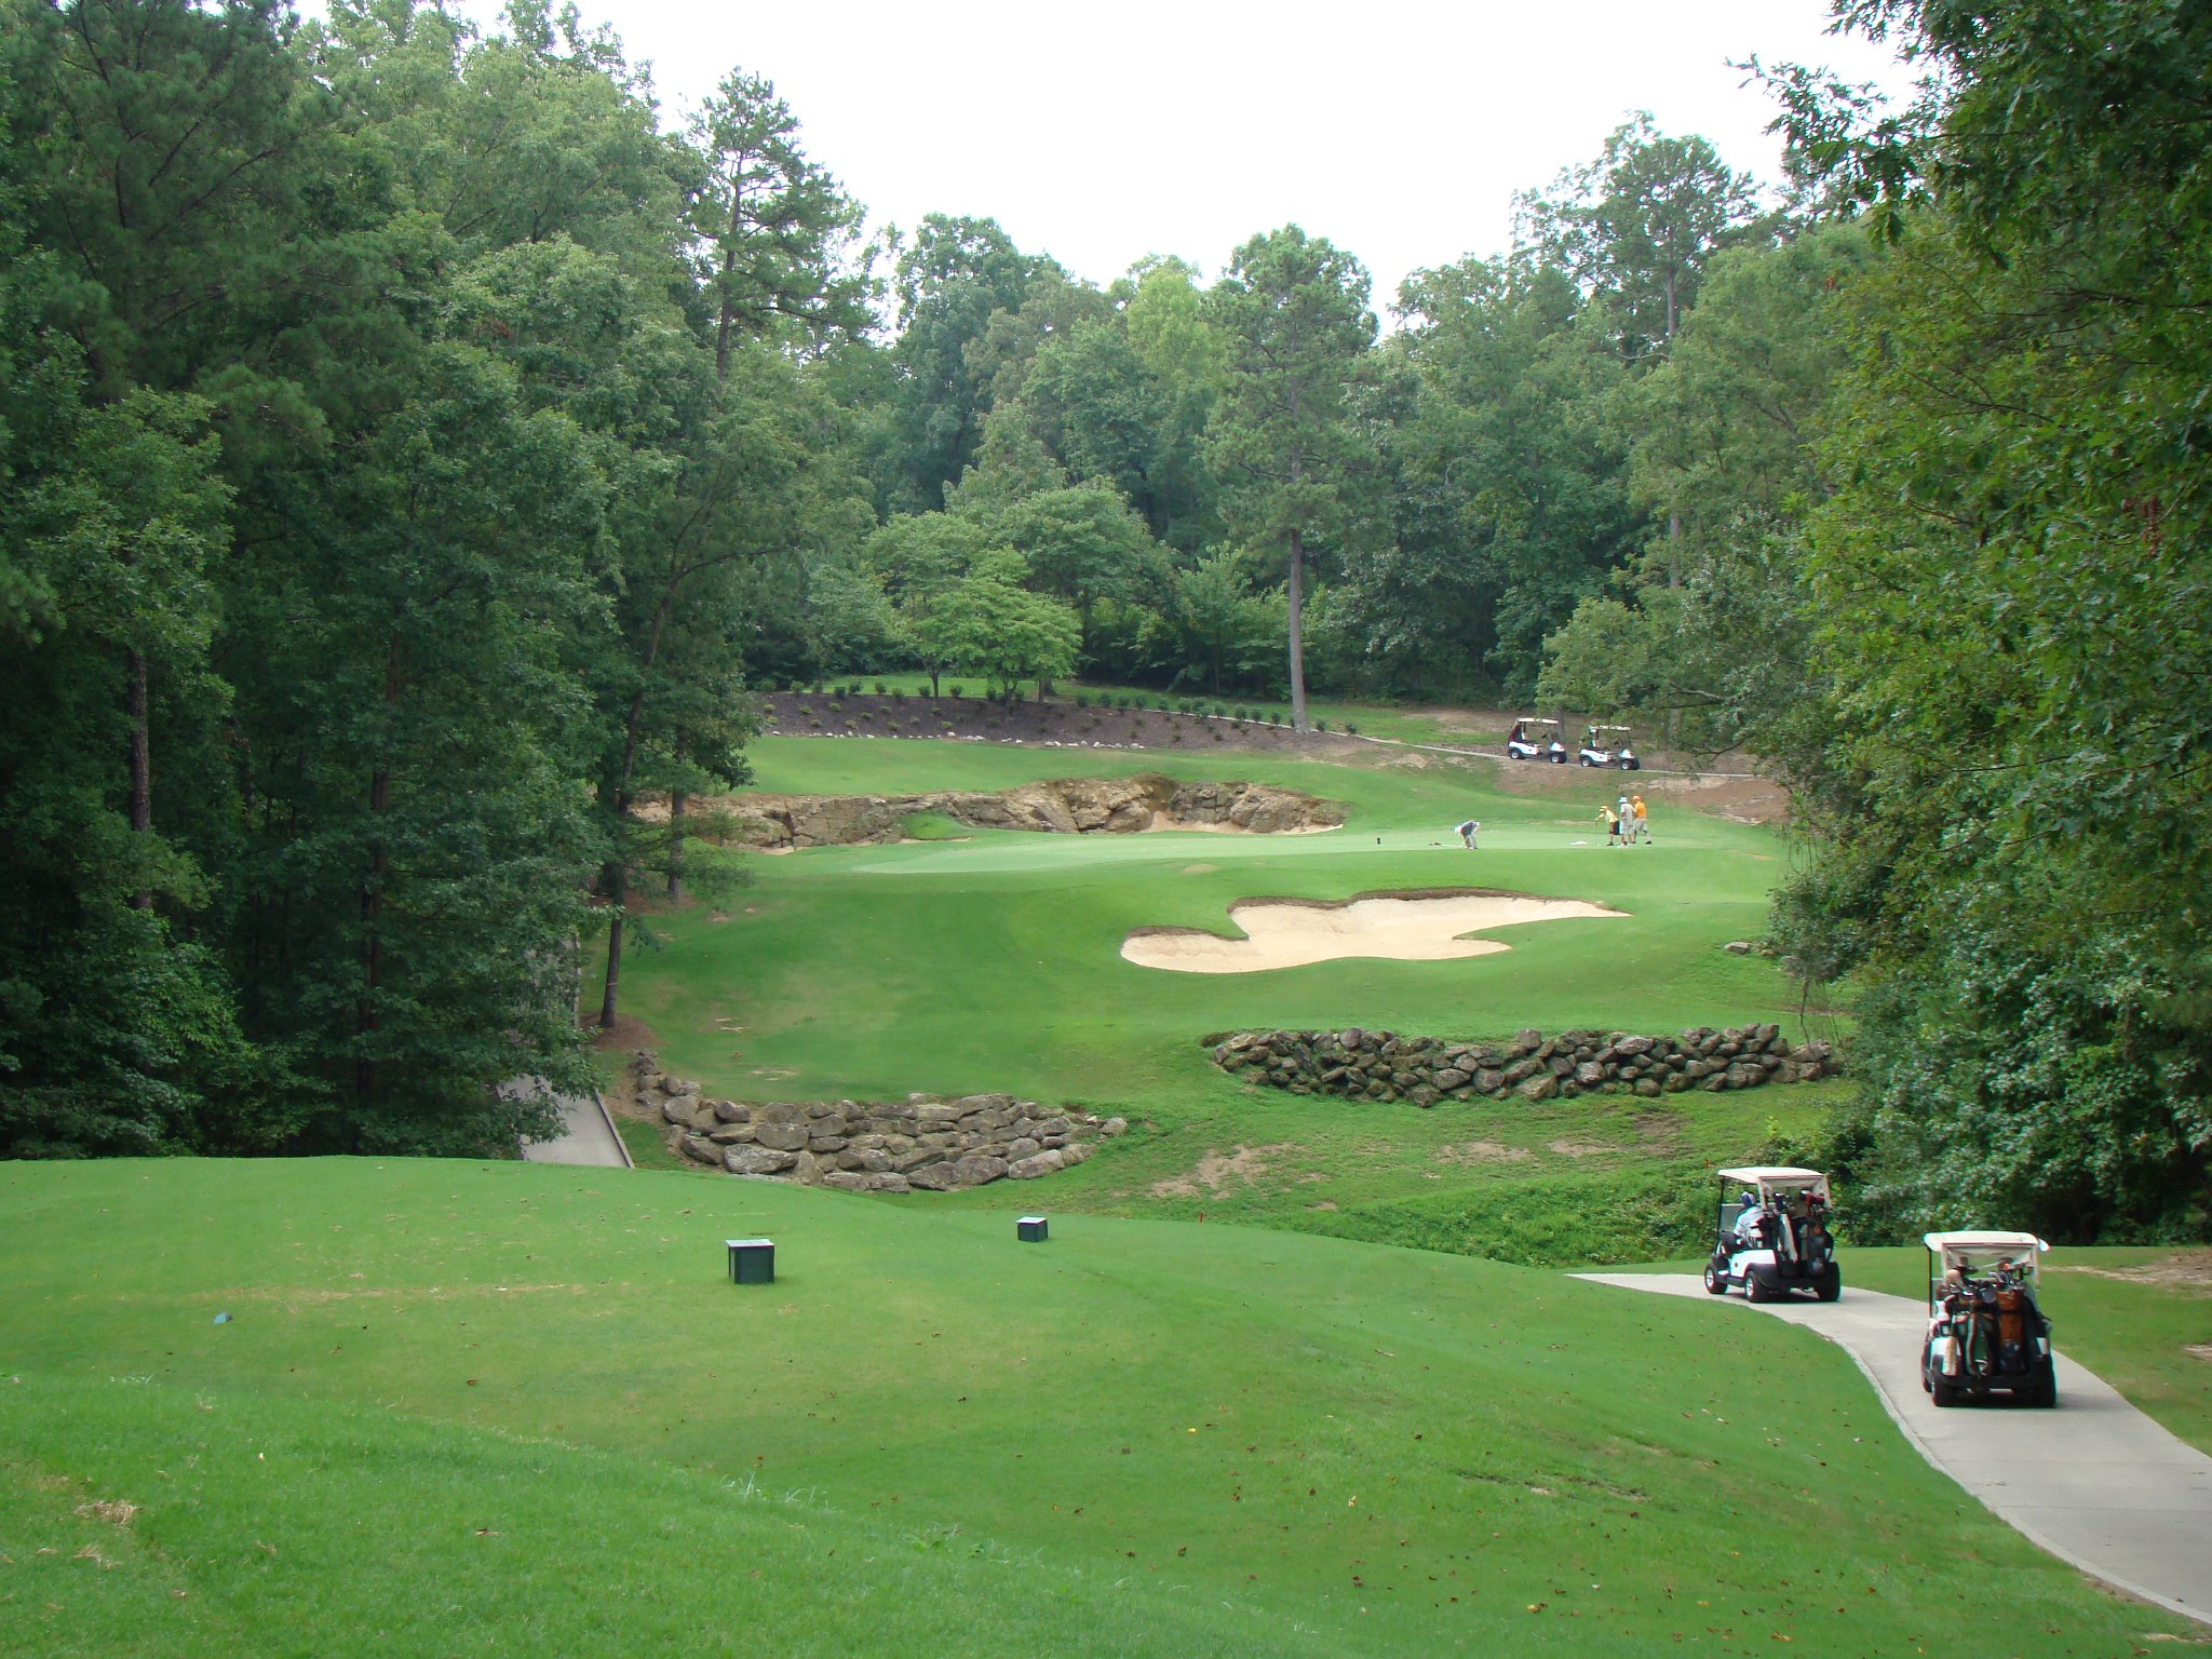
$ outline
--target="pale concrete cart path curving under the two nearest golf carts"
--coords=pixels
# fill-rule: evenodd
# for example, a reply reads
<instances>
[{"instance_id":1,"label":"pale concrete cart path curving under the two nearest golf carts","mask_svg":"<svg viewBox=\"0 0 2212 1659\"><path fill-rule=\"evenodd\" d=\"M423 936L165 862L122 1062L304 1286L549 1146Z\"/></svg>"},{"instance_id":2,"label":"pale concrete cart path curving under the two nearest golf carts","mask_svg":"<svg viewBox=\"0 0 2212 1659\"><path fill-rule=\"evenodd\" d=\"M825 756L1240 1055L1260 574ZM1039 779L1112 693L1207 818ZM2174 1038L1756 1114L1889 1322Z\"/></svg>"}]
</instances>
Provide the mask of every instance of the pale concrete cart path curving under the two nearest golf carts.
<instances>
[{"instance_id":1,"label":"pale concrete cart path curving under the two nearest golf carts","mask_svg":"<svg viewBox=\"0 0 2212 1659\"><path fill-rule=\"evenodd\" d=\"M1666 1296L1705 1294L1692 1274L1577 1274ZM1714 1310L1741 1316L1741 1310ZM1931 1464L2000 1520L2090 1577L2212 1624L2212 1458L2059 1354L2055 1411L2008 1402L1942 1411L1920 1387L1927 1307L1845 1287L1836 1303L1759 1303L1836 1343Z\"/></svg>"}]
</instances>

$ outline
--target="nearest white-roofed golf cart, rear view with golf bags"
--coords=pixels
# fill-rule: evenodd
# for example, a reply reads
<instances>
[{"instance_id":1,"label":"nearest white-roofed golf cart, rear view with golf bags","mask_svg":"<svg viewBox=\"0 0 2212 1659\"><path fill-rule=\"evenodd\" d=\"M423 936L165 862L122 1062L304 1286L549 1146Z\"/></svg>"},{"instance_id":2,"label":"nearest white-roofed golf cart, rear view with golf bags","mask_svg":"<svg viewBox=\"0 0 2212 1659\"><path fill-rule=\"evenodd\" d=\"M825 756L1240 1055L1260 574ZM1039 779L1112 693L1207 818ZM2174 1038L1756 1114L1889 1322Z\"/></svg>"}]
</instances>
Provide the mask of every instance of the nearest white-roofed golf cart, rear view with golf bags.
<instances>
[{"instance_id":1,"label":"nearest white-roofed golf cart, rear view with golf bags","mask_svg":"<svg viewBox=\"0 0 2212 1659\"><path fill-rule=\"evenodd\" d=\"M2004 1391L2028 1405L2059 1402L2051 1321L2035 1296L2033 1232L1931 1232L1929 1334L1920 1387L1936 1405Z\"/></svg>"}]
</instances>

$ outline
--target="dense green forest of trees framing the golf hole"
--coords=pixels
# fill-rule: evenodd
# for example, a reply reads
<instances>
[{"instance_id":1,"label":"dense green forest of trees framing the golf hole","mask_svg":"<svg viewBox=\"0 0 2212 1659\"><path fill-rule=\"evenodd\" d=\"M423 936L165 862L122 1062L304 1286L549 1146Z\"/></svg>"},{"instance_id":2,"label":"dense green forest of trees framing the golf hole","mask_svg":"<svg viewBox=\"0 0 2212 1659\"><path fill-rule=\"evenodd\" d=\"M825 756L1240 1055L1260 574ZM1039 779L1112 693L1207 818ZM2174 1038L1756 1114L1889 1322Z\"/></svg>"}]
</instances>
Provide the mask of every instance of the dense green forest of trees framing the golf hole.
<instances>
[{"instance_id":1,"label":"dense green forest of trees framing the golf hole","mask_svg":"<svg viewBox=\"0 0 2212 1659\"><path fill-rule=\"evenodd\" d=\"M989 637L1745 745L1869 1217L2203 1232L2212 11L1834 4L1916 102L1767 71L1774 184L1632 117L1378 301L865 237L549 0L0 0L0 1155L511 1146L639 796Z\"/></svg>"}]
</instances>

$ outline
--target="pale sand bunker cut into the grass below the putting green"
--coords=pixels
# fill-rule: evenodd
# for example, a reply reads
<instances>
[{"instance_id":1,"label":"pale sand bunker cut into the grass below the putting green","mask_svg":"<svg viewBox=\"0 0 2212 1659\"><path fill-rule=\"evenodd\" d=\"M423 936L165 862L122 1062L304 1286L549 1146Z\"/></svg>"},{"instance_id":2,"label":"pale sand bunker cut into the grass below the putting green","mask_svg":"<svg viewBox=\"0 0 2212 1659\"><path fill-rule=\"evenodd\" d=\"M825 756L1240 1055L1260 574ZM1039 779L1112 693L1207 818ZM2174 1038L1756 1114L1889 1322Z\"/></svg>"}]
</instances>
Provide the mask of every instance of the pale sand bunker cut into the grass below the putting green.
<instances>
[{"instance_id":1,"label":"pale sand bunker cut into the grass below the putting green","mask_svg":"<svg viewBox=\"0 0 2212 1659\"><path fill-rule=\"evenodd\" d=\"M1498 940L1462 938L1515 922L1557 922L1577 916L1621 916L1579 898L1451 891L1389 894L1318 905L1305 898L1250 898L1230 905L1230 920L1245 938L1221 938L1194 927L1139 927L1121 940L1121 956L1137 967L1177 973L1261 973L1279 967L1334 962L1345 956L1383 956L1396 962L1453 962L1506 949Z\"/></svg>"}]
</instances>

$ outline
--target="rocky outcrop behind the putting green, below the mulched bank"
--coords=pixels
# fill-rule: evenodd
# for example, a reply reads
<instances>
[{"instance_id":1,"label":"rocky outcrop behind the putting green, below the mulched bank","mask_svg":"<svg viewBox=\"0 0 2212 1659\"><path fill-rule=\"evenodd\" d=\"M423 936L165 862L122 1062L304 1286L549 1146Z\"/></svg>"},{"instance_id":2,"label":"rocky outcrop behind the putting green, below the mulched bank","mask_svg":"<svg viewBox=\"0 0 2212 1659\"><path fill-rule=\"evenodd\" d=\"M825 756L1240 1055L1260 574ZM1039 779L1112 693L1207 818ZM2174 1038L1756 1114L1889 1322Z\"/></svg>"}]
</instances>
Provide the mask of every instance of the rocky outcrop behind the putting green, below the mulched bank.
<instances>
[{"instance_id":1,"label":"rocky outcrop behind the putting green, below the mulched bank","mask_svg":"<svg viewBox=\"0 0 2212 1659\"><path fill-rule=\"evenodd\" d=\"M1267 783L1177 783L1159 772L1126 779L1053 779L1020 790L938 790L931 794L743 794L699 803L721 834L748 847L854 847L900 841L905 821L933 812L980 830L1044 834L1133 834L1139 830L1230 827L1252 834L1332 830L1345 821L1334 801ZM666 805L657 810L666 816ZM653 816L648 812L648 816Z\"/></svg>"}]
</instances>

